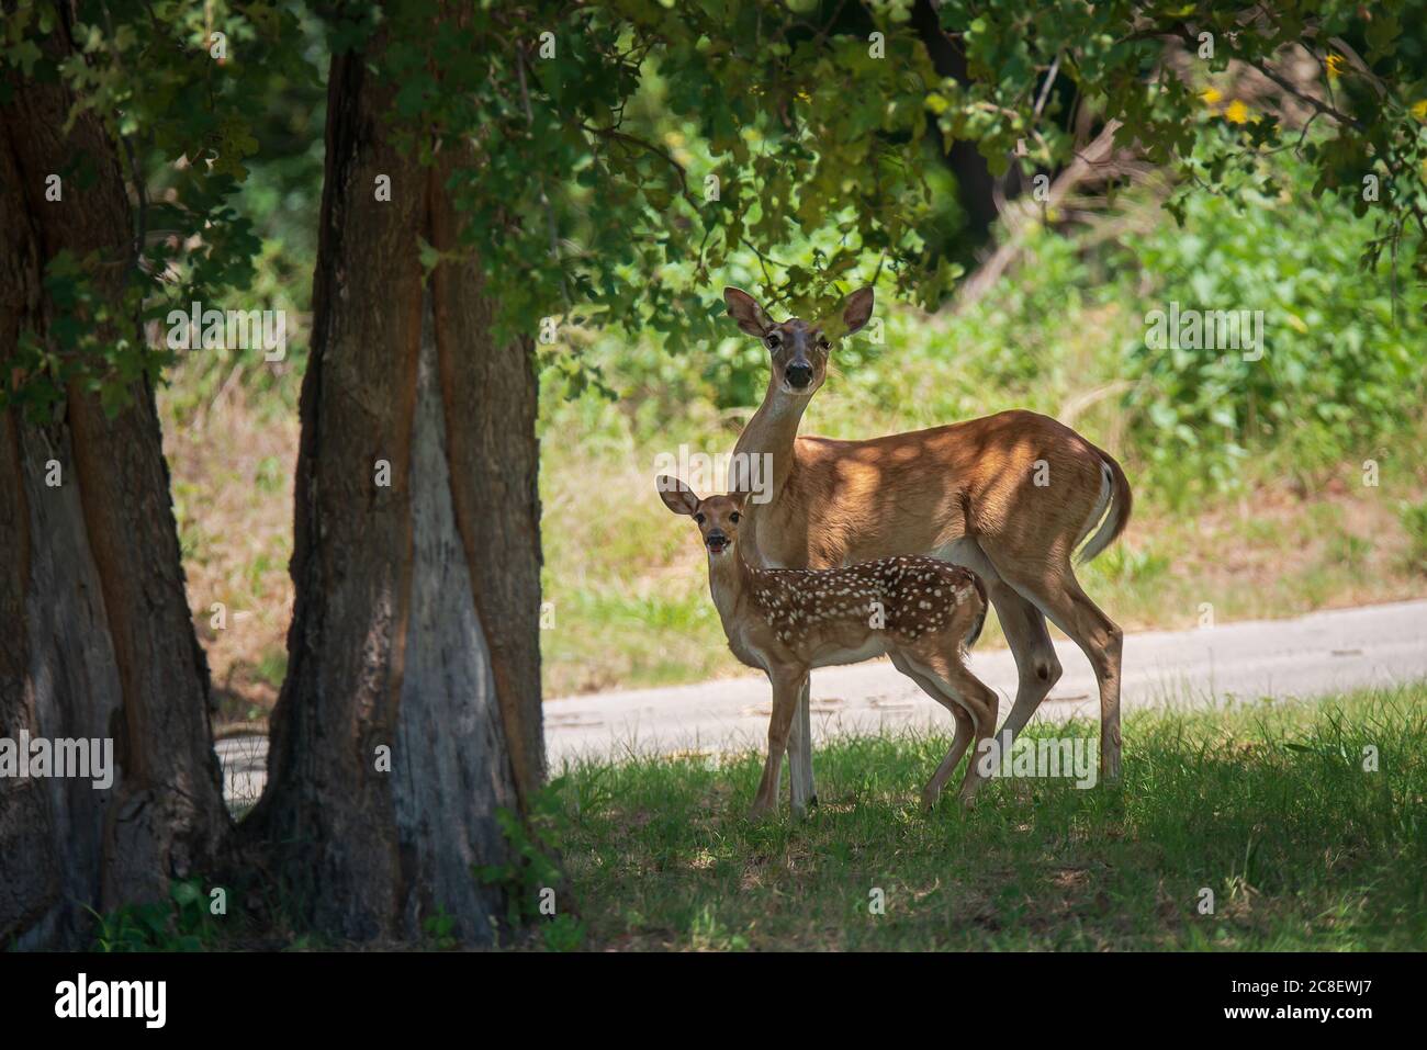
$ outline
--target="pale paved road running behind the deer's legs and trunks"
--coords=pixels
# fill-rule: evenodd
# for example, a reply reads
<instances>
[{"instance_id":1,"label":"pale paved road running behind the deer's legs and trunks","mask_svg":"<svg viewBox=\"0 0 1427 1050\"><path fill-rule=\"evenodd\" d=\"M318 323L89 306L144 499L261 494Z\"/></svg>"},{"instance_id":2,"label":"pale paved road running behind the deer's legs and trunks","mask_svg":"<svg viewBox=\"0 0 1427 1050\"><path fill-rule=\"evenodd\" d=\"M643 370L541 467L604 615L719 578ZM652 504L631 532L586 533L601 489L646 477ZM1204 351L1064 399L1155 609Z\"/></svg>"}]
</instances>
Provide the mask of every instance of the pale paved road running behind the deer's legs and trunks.
<instances>
[{"instance_id":1,"label":"pale paved road running behind the deer's legs and trunks","mask_svg":"<svg viewBox=\"0 0 1427 1050\"><path fill-rule=\"evenodd\" d=\"M1072 642L1057 642L1056 651L1065 675L1037 718L1099 718L1089 662ZM1005 718L1016 692L1010 652L975 652L970 666L1002 695ZM1427 601L1129 635L1122 695L1129 710L1229 698L1309 698L1418 678L1427 678ZM545 742L554 769L578 756L761 746L769 710L761 675L592 693L545 703ZM886 661L815 671L812 720L815 738L952 728L950 716ZM218 745L230 797L255 797L261 789L265 743L238 738Z\"/></svg>"}]
</instances>

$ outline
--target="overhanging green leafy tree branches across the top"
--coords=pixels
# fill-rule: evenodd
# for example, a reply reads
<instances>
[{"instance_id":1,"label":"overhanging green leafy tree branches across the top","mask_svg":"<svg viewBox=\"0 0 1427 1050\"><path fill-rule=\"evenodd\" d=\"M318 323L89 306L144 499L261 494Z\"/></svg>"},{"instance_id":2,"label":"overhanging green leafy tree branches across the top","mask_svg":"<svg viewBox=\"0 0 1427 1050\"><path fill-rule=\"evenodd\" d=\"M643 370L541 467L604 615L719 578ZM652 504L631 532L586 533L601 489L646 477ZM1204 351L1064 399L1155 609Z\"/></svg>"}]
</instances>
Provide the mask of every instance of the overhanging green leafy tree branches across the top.
<instances>
[{"instance_id":1,"label":"overhanging green leafy tree branches across the top","mask_svg":"<svg viewBox=\"0 0 1427 1050\"><path fill-rule=\"evenodd\" d=\"M1364 262L1388 253L1423 275L1427 60L1406 30L1423 4L935 7L965 80L935 73L905 0L471 4L435 37L420 29L428 1L81 0L81 54L47 46L71 9L23 0L0 56L101 116L137 228L130 260L49 261L64 318L47 345L23 341L0 397L43 412L80 378L117 409L128 379L163 368L168 351L136 325L103 334L114 307L87 290L96 267L127 268L136 321L248 287L250 160L271 153L285 97L317 97L324 51L378 31L405 147L427 161L471 147L450 188L507 334L579 321L706 338L728 272L791 312L872 280L935 307L960 274L942 251L936 148L968 140L993 173L1053 171L1086 117L1119 121L1117 140L1179 173L1180 215L1189 193L1274 191L1261 161L1294 150L1317 170L1313 193L1377 215ZM1219 106L1230 67L1263 77L1276 104ZM83 183L94 163L56 174Z\"/></svg>"}]
</instances>

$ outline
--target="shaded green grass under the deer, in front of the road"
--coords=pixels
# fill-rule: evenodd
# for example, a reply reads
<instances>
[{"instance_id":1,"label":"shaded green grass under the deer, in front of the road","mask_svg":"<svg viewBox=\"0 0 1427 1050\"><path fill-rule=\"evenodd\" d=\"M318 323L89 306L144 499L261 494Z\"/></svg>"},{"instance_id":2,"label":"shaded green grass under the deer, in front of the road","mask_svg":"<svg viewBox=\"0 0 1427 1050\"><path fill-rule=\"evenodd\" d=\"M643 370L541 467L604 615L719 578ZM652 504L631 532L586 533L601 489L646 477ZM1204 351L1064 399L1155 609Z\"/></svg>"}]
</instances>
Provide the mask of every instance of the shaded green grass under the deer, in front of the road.
<instances>
[{"instance_id":1,"label":"shaded green grass under the deer, in front of the road","mask_svg":"<svg viewBox=\"0 0 1427 1050\"><path fill-rule=\"evenodd\" d=\"M975 810L949 795L926 815L919 792L946 746L823 746L822 802L802 822L786 780L778 819L746 819L755 753L569 769L586 947L1427 947L1427 682L1136 713L1119 789L993 780Z\"/></svg>"}]
</instances>

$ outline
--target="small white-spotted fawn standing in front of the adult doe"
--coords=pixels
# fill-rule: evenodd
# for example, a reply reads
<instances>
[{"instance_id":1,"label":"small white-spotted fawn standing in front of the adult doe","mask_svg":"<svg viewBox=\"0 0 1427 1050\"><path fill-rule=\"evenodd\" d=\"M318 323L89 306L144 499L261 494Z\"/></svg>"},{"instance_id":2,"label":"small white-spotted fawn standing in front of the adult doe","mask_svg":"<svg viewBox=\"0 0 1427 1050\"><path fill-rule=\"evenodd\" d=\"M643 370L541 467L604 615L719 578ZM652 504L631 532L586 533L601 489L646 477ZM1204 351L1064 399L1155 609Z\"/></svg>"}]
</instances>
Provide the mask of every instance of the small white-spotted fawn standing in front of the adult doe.
<instances>
[{"instance_id":1,"label":"small white-spotted fawn standing in front of the adult doe","mask_svg":"<svg viewBox=\"0 0 1427 1050\"><path fill-rule=\"evenodd\" d=\"M658 479L675 514L694 518L709 555L709 591L739 661L761 668L773 686L768 759L753 816L778 806L778 780L798 700L809 672L859 663L883 653L893 666L952 712L956 736L922 792L936 803L969 743L973 760L960 797L970 805L980 785L975 753L996 726L997 698L963 663L980 635L986 591L959 565L936 558L879 558L845 569L755 569L738 552L746 492L699 499L675 478Z\"/></svg>"}]
</instances>

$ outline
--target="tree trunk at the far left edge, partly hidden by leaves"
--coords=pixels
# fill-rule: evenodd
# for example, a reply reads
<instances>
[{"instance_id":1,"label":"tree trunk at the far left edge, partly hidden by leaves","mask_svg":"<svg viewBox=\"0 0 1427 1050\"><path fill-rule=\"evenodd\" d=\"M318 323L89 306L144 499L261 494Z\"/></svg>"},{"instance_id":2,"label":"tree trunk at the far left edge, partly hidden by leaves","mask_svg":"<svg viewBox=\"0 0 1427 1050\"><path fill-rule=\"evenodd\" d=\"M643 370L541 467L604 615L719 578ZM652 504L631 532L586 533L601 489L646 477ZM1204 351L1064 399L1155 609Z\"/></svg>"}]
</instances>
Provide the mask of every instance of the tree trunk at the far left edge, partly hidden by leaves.
<instances>
[{"instance_id":1,"label":"tree trunk at the far left edge, partly hidden by leaves","mask_svg":"<svg viewBox=\"0 0 1427 1050\"><path fill-rule=\"evenodd\" d=\"M0 106L0 367L21 331L59 320L46 262L98 251L96 292L117 308L133 230L114 144L73 101L21 81ZM78 154L96 181L46 177ZM141 338L138 320L128 332ZM0 778L0 943L83 944L88 920L166 899L230 827L208 729L208 668L194 635L153 388L106 418L71 388L49 424L0 417L0 738L113 739L113 786ZM49 484L56 478L57 485Z\"/></svg>"}]
</instances>

